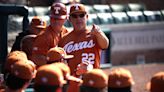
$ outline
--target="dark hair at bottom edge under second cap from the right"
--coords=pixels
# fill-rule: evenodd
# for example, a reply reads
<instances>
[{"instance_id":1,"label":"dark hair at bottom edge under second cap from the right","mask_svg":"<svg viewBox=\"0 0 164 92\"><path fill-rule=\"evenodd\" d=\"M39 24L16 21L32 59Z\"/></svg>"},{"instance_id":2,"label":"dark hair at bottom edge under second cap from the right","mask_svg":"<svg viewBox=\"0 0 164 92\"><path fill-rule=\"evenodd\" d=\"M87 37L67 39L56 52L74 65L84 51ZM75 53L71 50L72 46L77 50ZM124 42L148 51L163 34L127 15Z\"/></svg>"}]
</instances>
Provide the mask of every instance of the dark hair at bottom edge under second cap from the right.
<instances>
[{"instance_id":1,"label":"dark hair at bottom edge under second cap from the right","mask_svg":"<svg viewBox=\"0 0 164 92\"><path fill-rule=\"evenodd\" d=\"M123 87L123 88L108 87L108 92L132 92L132 91L131 91L131 87Z\"/></svg>"}]
</instances>

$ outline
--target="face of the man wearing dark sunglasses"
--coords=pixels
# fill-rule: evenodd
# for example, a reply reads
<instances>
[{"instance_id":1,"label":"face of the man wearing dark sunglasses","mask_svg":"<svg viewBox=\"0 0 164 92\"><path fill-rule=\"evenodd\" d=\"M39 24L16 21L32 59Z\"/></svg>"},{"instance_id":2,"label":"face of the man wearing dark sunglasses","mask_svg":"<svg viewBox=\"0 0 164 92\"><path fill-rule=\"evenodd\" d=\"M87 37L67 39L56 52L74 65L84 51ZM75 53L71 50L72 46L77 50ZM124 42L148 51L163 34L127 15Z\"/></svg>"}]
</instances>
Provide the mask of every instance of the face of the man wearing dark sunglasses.
<instances>
[{"instance_id":1,"label":"face of the man wearing dark sunglasses","mask_svg":"<svg viewBox=\"0 0 164 92\"><path fill-rule=\"evenodd\" d=\"M86 27L88 15L86 13L74 13L70 15L70 22L74 29L83 30Z\"/></svg>"}]
</instances>

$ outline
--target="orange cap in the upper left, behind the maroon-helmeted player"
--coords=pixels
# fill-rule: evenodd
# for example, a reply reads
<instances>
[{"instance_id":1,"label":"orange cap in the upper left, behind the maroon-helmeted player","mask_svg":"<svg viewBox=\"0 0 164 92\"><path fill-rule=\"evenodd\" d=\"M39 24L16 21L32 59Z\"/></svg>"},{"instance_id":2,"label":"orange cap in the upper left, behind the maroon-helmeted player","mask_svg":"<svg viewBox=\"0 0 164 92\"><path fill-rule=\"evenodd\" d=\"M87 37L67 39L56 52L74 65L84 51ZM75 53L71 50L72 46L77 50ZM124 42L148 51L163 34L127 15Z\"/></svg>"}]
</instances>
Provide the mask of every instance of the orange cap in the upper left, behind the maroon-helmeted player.
<instances>
[{"instance_id":1,"label":"orange cap in the upper left, behind the maroon-helmeted player","mask_svg":"<svg viewBox=\"0 0 164 92\"><path fill-rule=\"evenodd\" d=\"M46 28L46 21L43 21L40 17L34 16L30 23L31 28Z\"/></svg>"}]
</instances>

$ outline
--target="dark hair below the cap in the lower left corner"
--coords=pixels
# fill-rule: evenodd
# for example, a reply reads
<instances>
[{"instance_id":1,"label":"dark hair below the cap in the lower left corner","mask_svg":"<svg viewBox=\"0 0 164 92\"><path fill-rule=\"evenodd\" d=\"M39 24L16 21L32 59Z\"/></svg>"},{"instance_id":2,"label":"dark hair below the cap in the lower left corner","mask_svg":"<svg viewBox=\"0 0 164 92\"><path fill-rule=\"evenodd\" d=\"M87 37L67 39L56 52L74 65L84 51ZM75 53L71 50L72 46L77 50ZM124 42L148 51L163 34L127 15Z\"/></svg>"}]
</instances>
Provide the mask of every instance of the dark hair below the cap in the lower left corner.
<instances>
[{"instance_id":1,"label":"dark hair below the cap in the lower left corner","mask_svg":"<svg viewBox=\"0 0 164 92\"><path fill-rule=\"evenodd\" d=\"M23 86L27 83L30 82L29 79L21 79L16 77L15 75L8 74L6 76L6 86L9 87L12 90L17 90L20 88L23 88Z\"/></svg>"}]
</instances>

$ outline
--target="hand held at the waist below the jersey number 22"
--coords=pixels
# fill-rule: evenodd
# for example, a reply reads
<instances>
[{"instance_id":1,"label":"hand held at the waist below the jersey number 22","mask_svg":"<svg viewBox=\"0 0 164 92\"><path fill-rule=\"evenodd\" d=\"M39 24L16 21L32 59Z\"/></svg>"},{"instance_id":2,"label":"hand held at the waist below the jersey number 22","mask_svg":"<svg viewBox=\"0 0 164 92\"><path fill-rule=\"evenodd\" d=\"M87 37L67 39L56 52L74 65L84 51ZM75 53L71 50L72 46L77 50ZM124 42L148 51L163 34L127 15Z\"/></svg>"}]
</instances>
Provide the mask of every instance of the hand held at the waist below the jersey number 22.
<instances>
[{"instance_id":1,"label":"hand held at the waist below the jersey number 22","mask_svg":"<svg viewBox=\"0 0 164 92\"><path fill-rule=\"evenodd\" d=\"M93 69L93 65L90 64L88 61L82 62L77 66L76 75L82 75L92 69Z\"/></svg>"}]
</instances>

